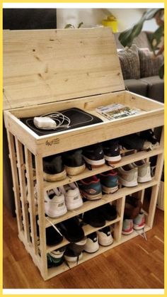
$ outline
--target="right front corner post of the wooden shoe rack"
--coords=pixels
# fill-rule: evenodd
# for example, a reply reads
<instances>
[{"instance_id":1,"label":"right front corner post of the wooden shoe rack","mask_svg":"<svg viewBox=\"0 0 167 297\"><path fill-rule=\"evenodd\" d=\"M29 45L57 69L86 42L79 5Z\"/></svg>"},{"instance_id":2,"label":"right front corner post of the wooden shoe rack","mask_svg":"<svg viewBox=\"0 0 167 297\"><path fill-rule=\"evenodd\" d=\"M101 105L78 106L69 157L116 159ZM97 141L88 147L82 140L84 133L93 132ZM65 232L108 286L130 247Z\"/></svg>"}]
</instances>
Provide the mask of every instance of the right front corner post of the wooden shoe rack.
<instances>
[{"instance_id":1,"label":"right front corner post of the wooden shoe rack","mask_svg":"<svg viewBox=\"0 0 167 297\"><path fill-rule=\"evenodd\" d=\"M164 145L164 127L162 128L161 132L161 141L160 141L161 147ZM149 203L149 215L146 220L147 225L152 228L153 223L154 223L154 215L156 211L156 202L159 194L159 186L160 186L160 181L161 181L161 174L162 174L162 169L163 169L163 162L164 162L164 153L158 155L157 161L156 161L156 172L155 172L155 179L157 180L156 186L152 187L151 191L151 200Z\"/></svg>"}]
</instances>

